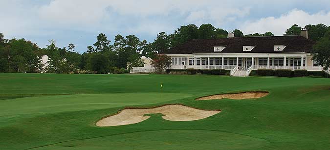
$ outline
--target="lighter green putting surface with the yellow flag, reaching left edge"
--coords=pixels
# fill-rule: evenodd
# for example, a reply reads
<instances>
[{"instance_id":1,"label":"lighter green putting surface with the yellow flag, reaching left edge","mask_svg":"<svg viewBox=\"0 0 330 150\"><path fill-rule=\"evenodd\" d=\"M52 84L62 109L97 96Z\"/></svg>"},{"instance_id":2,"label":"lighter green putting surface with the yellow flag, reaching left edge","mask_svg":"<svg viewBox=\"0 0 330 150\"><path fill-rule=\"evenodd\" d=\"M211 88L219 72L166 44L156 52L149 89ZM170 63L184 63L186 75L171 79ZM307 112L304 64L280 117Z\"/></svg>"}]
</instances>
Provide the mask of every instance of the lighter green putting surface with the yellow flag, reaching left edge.
<instances>
[{"instance_id":1,"label":"lighter green putting surface with the yellow flag, reaching left edge","mask_svg":"<svg viewBox=\"0 0 330 150\"><path fill-rule=\"evenodd\" d=\"M26 97L1 100L0 116L147 105L191 96L184 93L119 93Z\"/></svg>"}]
</instances>

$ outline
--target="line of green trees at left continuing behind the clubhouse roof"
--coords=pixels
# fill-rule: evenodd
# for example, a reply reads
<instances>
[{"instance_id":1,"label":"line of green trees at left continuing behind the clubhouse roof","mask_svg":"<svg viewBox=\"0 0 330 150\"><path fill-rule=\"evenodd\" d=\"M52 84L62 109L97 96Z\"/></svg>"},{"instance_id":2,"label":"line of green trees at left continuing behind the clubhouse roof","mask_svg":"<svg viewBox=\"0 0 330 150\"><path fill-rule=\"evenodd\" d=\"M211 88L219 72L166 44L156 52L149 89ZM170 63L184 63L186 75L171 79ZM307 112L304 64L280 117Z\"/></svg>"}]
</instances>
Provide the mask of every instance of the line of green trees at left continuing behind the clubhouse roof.
<instances>
[{"instance_id":1,"label":"line of green trees at left continuing behind the clubhouse roof","mask_svg":"<svg viewBox=\"0 0 330 150\"><path fill-rule=\"evenodd\" d=\"M308 35L313 41L320 41L330 29L324 24L306 25ZM301 27L294 24L285 35L300 35ZM234 30L235 37L273 36L271 32L244 35L239 29ZM96 37L96 42L79 54L75 45L56 46L56 41L48 40L48 45L40 48L37 43L25 39L4 39L0 33L0 72L30 72L42 70L41 56L47 55L47 73L124 73L133 66L143 66L141 56L155 58L165 50L192 39L227 38L228 31L216 28L212 24L181 26L172 34L160 32L152 43L140 40L135 35L116 35L113 43L104 34Z\"/></svg>"}]
</instances>

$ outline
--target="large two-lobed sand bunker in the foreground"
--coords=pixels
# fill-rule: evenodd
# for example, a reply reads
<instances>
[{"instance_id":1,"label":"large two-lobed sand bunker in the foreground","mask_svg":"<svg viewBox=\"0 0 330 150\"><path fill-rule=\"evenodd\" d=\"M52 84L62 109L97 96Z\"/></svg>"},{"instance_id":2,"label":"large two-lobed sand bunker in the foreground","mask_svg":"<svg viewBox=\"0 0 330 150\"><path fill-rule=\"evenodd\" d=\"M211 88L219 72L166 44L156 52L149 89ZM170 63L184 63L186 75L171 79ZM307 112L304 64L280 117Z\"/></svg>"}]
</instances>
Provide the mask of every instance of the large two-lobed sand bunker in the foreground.
<instances>
[{"instance_id":1,"label":"large two-lobed sand bunker in the foreground","mask_svg":"<svg viewBox=\"0 0 330 150\"><path fill-rule=\"evenodd\" d=\"M183 105L166 105L153 108L127 108L118 114L101 119L96 123L99 127L111 127L136 124L145 121L150 116L146 114L161 113L163 119L170 121L194 121L213 116L220 110L201 110Z\"/></svg>"}]
</instances>

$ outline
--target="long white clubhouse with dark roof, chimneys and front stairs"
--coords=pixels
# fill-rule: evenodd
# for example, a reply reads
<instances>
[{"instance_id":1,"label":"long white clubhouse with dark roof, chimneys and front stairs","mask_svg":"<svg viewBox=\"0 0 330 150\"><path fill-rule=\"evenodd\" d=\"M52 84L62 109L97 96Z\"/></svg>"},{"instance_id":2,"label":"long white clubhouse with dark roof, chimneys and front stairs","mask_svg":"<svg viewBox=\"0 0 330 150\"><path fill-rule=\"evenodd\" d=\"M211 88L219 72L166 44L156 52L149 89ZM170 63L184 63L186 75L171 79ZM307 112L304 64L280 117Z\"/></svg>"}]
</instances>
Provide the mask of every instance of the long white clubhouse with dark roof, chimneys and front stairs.
<instances>
[{"instance_id":1,"label":"long white clubhouse with dark roof, chimneys and front stairs","mask_svg":"<svg viewBox=\"0 0 330 150\"><path fill-rule=\"evenodd\" d=\"M306 69L322 71L312 60L315 42L308 31L301 36L235 37L190 40L165 52L172 58L171 69L226 69L232 76L248 76L258 69Z\"/></svg>"}]
</instances>

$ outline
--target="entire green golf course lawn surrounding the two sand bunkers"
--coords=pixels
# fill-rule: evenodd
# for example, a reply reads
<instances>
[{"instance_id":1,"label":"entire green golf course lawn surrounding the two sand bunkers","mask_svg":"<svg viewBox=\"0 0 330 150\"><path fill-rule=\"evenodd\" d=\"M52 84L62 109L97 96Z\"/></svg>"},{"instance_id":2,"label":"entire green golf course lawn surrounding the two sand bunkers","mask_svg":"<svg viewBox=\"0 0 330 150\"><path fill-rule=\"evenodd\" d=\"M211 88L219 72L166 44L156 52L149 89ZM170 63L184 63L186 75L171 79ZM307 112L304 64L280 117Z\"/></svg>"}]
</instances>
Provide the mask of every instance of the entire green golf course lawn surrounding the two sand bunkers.
<instances>
[{"instance_id":1,"label":"entire green golf course lawn surrounding the two sand bunkers","mask_svg":"<svg viewBox=\"0 0 330 150\"><path fill-rule=\"evenodd\" d=\"M194 100L249 90L270 94L251 100ZM133 125L95 126L125 106L163 104L222 112L190 122L152 115ZM0 74L0 150L325 150L330 147L329 125L329 79Z\"/></svg>"}]
</instances>

